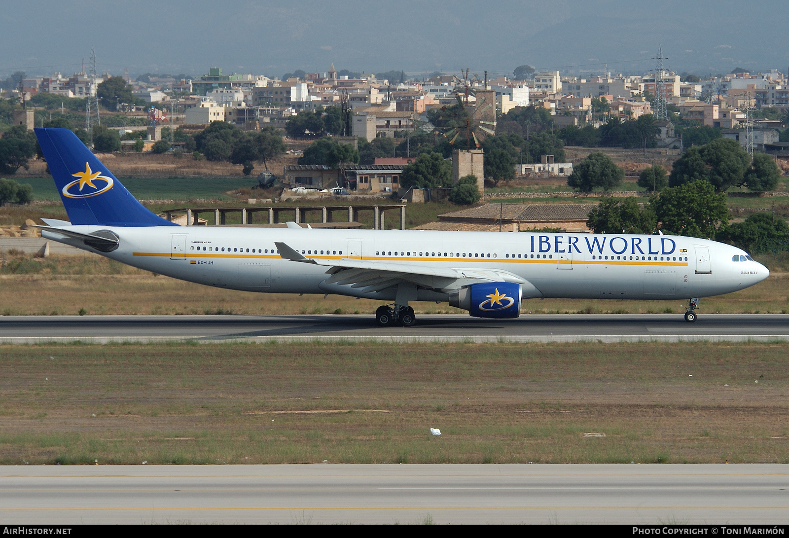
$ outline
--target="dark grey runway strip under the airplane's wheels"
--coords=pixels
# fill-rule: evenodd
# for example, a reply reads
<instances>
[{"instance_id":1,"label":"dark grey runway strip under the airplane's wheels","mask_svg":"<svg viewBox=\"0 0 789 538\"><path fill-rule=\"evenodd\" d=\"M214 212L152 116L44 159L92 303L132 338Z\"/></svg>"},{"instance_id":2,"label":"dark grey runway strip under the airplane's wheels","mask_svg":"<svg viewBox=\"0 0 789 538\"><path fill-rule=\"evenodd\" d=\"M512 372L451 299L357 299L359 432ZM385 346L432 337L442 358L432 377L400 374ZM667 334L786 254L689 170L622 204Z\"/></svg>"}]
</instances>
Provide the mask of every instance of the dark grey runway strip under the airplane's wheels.
<instances>
[{"instance_id":1,"label":"dark grey runway strip under the airplane's wheels","mask_svg":"<svg viewBox=\"0 0 789 538\"><path fill-rule=\"evenodd\" d=\"M372 315L0 316L0 344L45 342L741 342L789 341L789 316L701 314L525 315L518 319L417 316L377 327Z\"/></svg>"}]
</instances>

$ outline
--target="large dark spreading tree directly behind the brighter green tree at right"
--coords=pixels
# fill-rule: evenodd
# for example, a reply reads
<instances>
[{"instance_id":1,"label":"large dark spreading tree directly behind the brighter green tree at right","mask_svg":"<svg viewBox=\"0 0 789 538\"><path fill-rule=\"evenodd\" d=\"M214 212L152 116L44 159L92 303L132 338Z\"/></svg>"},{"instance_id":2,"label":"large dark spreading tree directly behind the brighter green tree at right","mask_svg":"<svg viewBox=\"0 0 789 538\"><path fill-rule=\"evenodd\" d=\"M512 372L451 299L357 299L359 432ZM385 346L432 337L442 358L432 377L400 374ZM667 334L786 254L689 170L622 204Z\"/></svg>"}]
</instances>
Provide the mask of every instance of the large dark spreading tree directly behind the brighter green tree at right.
<instances>
[{"instance_id":1,"label":"large dark spreading tree directly behind the brighter green tree at right","mask_svg":"<svg viewBox=\"0 0 789 538\"><path fill-rule=\"evenodd\" d=\"M688 149L674 162L668 185L676 187L690 181L709 181L716 192L724 192L731 185L742 185L750 155L737 140L719 138L703 146Z\"/></svg>"}]
</instances>

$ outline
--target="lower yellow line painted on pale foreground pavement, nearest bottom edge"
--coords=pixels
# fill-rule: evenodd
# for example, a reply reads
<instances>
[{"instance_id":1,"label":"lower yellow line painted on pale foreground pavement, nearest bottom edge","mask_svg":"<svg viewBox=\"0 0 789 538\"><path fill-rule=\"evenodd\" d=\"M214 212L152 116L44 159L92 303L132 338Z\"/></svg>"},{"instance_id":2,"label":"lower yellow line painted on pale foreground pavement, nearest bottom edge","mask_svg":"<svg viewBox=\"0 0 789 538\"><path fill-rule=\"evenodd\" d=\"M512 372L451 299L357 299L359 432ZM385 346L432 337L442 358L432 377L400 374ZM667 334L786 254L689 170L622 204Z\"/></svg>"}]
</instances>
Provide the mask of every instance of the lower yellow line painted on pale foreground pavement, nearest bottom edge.
<instances>
[{"instance_id":1,"label":"lower yellow line painted on pale foreground pavement, nearest bottom edge","mask_svg":"<svg viewBox=\"0 0 789 538\"><path fill-rule=\"evenodd\" d=\"M789 506L179 506L139 508L0 508L0 512L134 510L787 510Z\"/></svg>"}]
</instances>

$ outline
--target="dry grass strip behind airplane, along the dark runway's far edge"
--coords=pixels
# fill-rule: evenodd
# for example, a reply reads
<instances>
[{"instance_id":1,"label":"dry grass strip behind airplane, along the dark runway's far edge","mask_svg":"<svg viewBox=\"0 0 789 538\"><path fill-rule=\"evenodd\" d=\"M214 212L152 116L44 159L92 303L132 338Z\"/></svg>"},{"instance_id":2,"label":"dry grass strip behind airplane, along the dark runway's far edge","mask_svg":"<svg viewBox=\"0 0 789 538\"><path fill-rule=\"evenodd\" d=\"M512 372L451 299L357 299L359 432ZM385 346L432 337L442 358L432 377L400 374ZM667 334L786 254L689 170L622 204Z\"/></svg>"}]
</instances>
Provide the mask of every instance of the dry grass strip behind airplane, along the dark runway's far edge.
<instances>
[{"instance_id":1,"label":"dry grass strip behind airplane, along the dark runway's far edge","mask_svg":"<svg viewBox=\"0 0 789 538\"><path fill-rule=\"evenodd\" d=\"M787 260L773 260L783 267ZM353 297L224 290L153 275L92 254L34 259L28 254L3 255L0 268L0 314L372 314L381 301ZM101 275L100 281L95 278ZM97 286L97 282L100 285ZM774 272L757 286L701 301L700 312L787 313L789 272ZM675 301L611 301L532 299L524 314L683 312L687 297ZM466 314L446 303L413 304L417 313Z\"/></svg>"}]
</instances>

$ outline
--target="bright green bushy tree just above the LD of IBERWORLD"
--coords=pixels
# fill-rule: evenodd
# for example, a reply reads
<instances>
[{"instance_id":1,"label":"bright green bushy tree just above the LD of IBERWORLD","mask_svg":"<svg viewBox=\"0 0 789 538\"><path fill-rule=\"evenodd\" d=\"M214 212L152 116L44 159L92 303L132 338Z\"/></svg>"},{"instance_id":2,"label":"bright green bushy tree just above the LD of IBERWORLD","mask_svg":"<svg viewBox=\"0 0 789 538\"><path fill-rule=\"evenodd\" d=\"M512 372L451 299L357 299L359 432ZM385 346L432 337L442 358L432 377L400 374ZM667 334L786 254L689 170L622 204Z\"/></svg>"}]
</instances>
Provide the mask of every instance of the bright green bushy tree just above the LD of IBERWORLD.
<instances>
[{"instance_id":1,"label":"bright green bushy tree just above the LD of IBERWORLD","mask_svg":"<svg viewBox=\"0 0 789 538\"><path fill-rule=\"evenodd\" d=\"M650 200L660 230L667 234L712 239L729 221L726 193L716 192L709 181L697 179L667 187Z\"/></svg>"}]
</instances>

